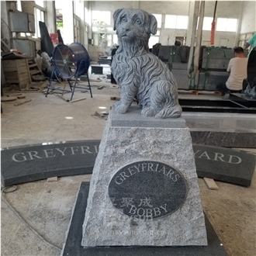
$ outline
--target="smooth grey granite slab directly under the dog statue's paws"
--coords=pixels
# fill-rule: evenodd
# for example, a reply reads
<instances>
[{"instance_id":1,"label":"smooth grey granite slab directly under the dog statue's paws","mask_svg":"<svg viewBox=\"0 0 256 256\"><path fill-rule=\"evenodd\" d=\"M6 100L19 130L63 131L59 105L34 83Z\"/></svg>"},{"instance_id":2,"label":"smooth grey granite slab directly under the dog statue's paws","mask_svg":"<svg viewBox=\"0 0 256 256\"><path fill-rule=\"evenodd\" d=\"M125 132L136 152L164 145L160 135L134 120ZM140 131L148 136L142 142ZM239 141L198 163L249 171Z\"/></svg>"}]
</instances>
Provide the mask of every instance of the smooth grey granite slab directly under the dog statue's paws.
<instances>
[{"instance_id":1,"label":"smooth grey granite slab directly under the dog statue's paws","mask_svg":"<svg viewBox=\"0 0 256 256\"><path fill-rule=\"evenodd\" d=\"M156 119L154 117L140 115L141 109L138 106L130 106L129 112L125 114L116 114L115 106L112 106L112 123L114 127L164 127L164 128L184 128L185 119L167 118Z\"/></svg>"}]
</instances>

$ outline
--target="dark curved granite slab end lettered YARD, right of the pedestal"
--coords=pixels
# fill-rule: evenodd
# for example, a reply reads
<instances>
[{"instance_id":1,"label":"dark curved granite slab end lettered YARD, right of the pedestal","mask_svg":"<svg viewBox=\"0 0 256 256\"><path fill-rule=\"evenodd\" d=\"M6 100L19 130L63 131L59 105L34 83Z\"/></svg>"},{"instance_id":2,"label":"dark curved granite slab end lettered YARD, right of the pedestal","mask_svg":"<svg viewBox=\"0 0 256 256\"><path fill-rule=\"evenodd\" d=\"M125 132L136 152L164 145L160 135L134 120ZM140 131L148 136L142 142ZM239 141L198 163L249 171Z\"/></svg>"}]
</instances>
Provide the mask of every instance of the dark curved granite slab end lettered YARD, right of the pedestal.
<instances>
[{"instance_id":1,"label":"dark curved granite slab end lettered YARD, right of the pedestal","mask_svg":"<svg viewBox=\"0 0 256 256\"><path fill-rule=\"evenodd\" d=\"M254 154L193 144L196 172L199 177L213 178L222 182L250 186L254 175Z\"/></svg>"}]
</instances>

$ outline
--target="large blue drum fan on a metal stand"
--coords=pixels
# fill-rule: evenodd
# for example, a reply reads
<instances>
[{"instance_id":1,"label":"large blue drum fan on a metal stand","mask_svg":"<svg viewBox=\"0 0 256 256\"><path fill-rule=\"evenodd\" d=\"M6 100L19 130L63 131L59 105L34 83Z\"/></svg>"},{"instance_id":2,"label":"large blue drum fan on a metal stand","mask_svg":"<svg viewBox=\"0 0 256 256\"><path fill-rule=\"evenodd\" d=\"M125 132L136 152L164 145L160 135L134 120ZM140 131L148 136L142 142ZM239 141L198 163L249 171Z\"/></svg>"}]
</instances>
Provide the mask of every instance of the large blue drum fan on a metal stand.
<instances>
[{"instance_id":1,"label":"large blue drum fan on a metal stand","mask_svg":"<svg viewBox=\"0 0 256 256\"><path fill-rule=\"evenodd\" d=\"M61 88L54 88L54 89L65 91L65 92L72 92L72 95L71 95L71 100L72 100L74 95L74 89L81 88L76 86L78 76L86 74L88 78L88 68L90 66L90 58L87 50L81 43L71 43L69 46L63 43L60 43L54 48L54 52L52 54L52 64L54 68L50 77L50 83L48 85L47 94L50 88L54 88L54 87L51 87L50 85L55 72L59 77L67 79L67 82L71 90L65 90ZM71 84L70 79L73 77L75 77L75 81L74 81L74 84ZM91 97L92 97L92 89L90 86L89 79L88 79L87 89L90 90Z\"/></svg>"}]
</instances>

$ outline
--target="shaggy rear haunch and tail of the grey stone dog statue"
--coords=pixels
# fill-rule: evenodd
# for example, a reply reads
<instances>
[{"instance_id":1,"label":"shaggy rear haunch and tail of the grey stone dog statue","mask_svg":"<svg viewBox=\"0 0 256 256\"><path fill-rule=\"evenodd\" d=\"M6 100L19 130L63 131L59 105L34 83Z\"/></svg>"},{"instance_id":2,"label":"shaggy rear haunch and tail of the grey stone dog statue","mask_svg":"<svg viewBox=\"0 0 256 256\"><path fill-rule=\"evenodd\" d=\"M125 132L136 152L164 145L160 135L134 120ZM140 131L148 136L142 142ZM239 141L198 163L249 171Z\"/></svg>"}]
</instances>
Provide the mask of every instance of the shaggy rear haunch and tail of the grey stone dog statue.
<instances>
[{"instance_id":1,"label":"shaggy rear haunch and tail of the grey stone dog statue","mask_svg":"<svg viewBox=\"0 0 256 256\"><path fill-rule=\"evenodd\" d=\"M178 103L178 91L169 81L158 81L151 93L151 104L156 110L155 118L177 118L182 115L182 107Z\"/></svg>"}]
</instances>

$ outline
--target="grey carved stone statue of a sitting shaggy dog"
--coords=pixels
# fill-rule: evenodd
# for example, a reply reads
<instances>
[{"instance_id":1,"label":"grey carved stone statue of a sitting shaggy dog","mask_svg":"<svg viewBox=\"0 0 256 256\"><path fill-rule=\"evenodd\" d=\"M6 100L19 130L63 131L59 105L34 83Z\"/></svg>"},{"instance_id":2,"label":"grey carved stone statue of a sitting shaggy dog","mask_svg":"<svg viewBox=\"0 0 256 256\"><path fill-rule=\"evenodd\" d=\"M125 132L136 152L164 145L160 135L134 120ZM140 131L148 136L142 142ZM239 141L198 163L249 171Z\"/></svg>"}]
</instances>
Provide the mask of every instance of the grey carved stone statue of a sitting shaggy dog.
<instances>
[{"instance_id":1,"label":"grey carved stone statue of a sitting shaggy dog","mask_svg":"<svg viewBox=\"0 0 256 256\"><path fill-rule=\"evenodd\" d=\"M116 113L126 113L137 96L143 116L181 116L175 78L167 65L149 51L150 33L157 33L155 17L140 9L118 9L113 18L119 48L111 71L121 95L115 105Z\"/></svg>"}]
</instances>

